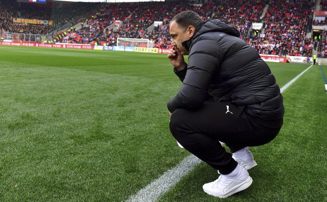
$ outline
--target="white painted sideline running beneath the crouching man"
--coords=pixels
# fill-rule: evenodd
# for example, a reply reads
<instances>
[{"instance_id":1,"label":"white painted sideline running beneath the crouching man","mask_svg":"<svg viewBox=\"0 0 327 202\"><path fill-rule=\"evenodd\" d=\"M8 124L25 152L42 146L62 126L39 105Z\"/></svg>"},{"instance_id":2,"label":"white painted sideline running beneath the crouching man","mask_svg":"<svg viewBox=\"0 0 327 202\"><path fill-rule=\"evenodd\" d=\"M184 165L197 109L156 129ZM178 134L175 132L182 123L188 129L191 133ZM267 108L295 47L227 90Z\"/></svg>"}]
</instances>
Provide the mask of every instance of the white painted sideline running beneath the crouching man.
<instances>
[{"instance_id":1,"label":"white painted sideline running beneath the crouching man","mask_svg":"<svg viewBox=\"0 0 327 202\"><path fill-rule=\"evenodd\" d=\"M281 93L286 88L288 88L291 84L293 84L302 74L304 74L304 72L309 70L312 66L313 65L302 71L294 79L292 79L290 82L285 84L281 88ZM224 143L220 142L220 144L223 145ZM161 195L166 193L172 186L174 186L177 182L179 182L185 175L191 172L201 162L202 161L200 159L198 159L196 156L191 154L190 156L183 159L174 168L166 171L158 179L154 180L146 187L141 189L137 194L130 196L129 199L127 199L127 202L157 201Z\"/></svg>"}]
</instances>

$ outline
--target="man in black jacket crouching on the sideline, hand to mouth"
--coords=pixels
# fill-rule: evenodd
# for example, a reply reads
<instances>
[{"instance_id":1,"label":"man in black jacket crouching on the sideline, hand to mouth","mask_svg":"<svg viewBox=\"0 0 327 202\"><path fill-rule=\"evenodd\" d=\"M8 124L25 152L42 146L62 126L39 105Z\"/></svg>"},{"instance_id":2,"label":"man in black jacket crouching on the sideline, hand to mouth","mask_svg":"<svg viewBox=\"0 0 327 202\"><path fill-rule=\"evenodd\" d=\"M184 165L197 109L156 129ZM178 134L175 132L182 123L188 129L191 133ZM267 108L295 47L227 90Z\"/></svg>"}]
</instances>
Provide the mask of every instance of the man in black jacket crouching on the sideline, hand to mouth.
<instances>
[{"instance_id":1,"label":"man in black jacket crouching on the sideline, hand to mouth","mask_svg":"<svg viewBox=\"0 0 327 202\"><path fill-rule=\"evenodd\" d=\"M193 11L177 14L170 22L168 54L183 83L167 103L170 131L221 174L203 185L220 198L251 185L247 170L257 163L249 147L273 140L284 116L283 97L269 67L225 22L204 22ZM188 64L183 55L189 55Z\"/></svg>"}]
</instances>

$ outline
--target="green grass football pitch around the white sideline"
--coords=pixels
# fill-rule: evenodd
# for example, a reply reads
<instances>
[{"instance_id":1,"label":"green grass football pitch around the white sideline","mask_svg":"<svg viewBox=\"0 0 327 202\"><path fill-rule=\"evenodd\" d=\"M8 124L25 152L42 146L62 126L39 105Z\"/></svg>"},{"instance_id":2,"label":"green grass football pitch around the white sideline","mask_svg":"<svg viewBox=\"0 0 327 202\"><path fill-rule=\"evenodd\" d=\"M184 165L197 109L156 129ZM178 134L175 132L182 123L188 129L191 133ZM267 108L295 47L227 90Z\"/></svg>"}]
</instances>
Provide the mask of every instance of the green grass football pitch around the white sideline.
<instances>
[{"instance_id":1,"label":"green grass football pitch around the white sideline","mask_svg":"<svg viewBox=\"0 0 327 202\"><path fill-rule=\"evenodd\" d=\"M268 63L280 87L307 64ZM323 67L327 73L327 67ZM0 47L0 201L124 201L189 155L169 132L181 82L165 54ZM319 66L283 92L284 126L251 151L252 185L224 200L201 163L159 201L326 201Z\"/></svg>"}]
</instances>

